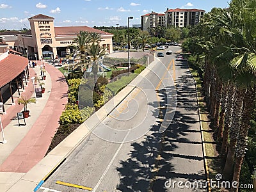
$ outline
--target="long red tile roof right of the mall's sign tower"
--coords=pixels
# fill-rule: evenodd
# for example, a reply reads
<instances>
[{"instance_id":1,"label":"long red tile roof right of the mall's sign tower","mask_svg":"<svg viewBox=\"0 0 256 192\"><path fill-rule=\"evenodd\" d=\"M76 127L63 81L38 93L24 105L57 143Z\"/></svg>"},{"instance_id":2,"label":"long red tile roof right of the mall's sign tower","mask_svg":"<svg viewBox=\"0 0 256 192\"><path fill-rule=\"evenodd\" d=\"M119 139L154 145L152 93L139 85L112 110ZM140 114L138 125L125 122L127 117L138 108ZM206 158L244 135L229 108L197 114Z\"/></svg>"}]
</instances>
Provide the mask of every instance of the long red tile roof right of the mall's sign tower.
<instances>
[{"instance_id":1,"label":"long red tile roof right of the mall's sign tower","mask_svg":"<svg viewBox=\"0 0 256 192\"><path fill-rule=\"evenodd\" d=\"M100 31L99 29L90 28L88 26L70 26L70 27L54 27L55 36L70 36L77 35L79 31L88 31L99 33L100 35L113 35L106 31Z\"/></svg>"}]
</instances>

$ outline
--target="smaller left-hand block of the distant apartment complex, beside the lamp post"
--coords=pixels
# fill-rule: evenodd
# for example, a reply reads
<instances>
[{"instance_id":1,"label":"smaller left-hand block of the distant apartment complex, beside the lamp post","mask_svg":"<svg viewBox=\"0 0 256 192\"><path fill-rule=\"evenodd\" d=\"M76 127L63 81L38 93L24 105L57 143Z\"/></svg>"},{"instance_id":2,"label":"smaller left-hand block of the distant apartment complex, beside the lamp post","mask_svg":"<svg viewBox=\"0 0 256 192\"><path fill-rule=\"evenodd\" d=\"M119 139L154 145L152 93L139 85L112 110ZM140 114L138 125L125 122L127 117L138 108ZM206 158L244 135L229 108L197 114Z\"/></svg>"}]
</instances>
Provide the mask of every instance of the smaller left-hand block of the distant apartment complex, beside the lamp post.
<instances>
[{"instance_id":1,"label":"smaller left-hand block of the distant apartment complex, beside the lamp post","mask_svg":"<svg viewBox=\"0 0 256 192\"><path fill-rule=\"evenodd\" d=\"M164 26L165 15L163 13L151 12L141 15L141 29L150 32L150 28Z\"/></svg>"}]
</instances>

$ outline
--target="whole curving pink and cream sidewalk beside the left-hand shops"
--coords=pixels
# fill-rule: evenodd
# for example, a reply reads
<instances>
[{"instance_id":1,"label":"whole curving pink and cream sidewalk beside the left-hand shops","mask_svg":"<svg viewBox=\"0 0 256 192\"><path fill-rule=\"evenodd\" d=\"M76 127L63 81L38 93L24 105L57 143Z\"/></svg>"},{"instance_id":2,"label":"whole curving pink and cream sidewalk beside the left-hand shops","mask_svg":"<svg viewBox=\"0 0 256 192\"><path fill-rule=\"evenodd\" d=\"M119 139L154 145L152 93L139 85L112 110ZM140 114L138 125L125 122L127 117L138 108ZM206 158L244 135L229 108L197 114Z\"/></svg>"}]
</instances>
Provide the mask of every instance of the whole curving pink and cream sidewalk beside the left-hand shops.
<instances>
[{"instance_id":1,"label":"whole curving pink and cream sidewalk beside the left-hand shops","mask_svg":"<svg viewBox=\"0 0 256 192\"><path fill-rule=\"evenodd\" d=\"M45 93L42 94L43 97L36 99L36 104L28 104L30 116L26 118L27 125L19 127L18 120L11 120L23 109L23 106L17 104L17 97L15 105L8 107L6 115L1 115L4 136L8 141L4 145L0 144L1 191L10 188L17 179L44 158L59 127L58 120L67 103L68 86L58 69L45 63L45 70ZM39 67L29 68L29 72L30 77L40 75ZM25 90L22 95L35 97L31 81Z\"/></svg>"}]
</instances>

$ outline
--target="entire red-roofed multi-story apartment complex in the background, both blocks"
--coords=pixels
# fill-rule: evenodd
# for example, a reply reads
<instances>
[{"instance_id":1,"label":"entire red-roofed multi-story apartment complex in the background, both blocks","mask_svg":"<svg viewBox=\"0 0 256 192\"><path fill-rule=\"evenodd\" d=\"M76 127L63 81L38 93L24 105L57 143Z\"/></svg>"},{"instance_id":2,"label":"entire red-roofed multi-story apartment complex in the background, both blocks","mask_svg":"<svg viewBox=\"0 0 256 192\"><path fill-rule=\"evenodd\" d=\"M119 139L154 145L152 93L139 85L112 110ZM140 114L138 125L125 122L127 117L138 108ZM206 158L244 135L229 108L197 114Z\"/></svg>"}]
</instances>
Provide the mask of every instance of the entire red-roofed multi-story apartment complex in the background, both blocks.
<instances>
[{"instance_id":1,"label":"entire red-roofed multi-story apartment complex in the background, both blocks","mask_svg":"<svg viewBox=\"0 0 256 192\"><path fill-rule=\"evenodd\" d=\"M177 26L180 28L195 26L203 17L205 10L198 9L169 9L166 12L151 12L141 15L141 29L150 32L156 26Z\"/></svg>"}]
</instances>

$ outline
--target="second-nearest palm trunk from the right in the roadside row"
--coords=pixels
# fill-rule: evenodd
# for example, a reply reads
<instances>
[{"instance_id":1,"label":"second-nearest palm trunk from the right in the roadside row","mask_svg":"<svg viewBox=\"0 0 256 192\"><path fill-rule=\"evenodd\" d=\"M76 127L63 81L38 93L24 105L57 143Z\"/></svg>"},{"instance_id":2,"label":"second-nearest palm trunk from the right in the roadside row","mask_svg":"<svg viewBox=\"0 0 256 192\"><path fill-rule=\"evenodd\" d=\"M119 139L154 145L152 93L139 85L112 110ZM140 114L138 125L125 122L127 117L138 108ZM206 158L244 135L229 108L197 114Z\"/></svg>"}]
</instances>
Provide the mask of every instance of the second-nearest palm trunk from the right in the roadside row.
<instances>
[{"instance_id":1,"label":"second-nearest palm trunk from the right in the roadside row","mask_svg":"<svg viewBox=\"0 0 256 192\"><path fill-rule=\"evenodd\" d=\"M234 113L232 115L232 127L230 127L230 144L228 145L228 156L223 170L224 179L232 179L232 170L234 165L235 146L238 132L241 127L241 112L243 107L244 90L236 89L234 100Z\"/></svg>"}]
</instances>

